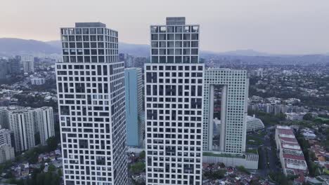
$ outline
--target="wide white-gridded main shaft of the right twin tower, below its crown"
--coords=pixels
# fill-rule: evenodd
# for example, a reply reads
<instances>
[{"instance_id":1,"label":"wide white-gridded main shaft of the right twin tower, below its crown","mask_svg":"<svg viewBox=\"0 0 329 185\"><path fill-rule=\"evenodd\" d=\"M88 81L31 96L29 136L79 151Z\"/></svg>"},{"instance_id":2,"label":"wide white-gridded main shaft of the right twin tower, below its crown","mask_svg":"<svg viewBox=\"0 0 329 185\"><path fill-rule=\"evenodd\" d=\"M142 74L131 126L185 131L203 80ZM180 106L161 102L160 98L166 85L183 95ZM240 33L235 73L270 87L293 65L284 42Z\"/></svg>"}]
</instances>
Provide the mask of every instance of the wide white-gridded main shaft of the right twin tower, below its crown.
<instances>
[{"instance_id":1,"label":"wide white-gridded main shaft of the right twin tower, below its crown","mask_svg":"<svg viewBox=\"0 0 329 185\"><path fill-rule=\"evenodd\" d=\"M204 64L146 64L146 183L202 184Z\"/></svg>"}]
</instances>

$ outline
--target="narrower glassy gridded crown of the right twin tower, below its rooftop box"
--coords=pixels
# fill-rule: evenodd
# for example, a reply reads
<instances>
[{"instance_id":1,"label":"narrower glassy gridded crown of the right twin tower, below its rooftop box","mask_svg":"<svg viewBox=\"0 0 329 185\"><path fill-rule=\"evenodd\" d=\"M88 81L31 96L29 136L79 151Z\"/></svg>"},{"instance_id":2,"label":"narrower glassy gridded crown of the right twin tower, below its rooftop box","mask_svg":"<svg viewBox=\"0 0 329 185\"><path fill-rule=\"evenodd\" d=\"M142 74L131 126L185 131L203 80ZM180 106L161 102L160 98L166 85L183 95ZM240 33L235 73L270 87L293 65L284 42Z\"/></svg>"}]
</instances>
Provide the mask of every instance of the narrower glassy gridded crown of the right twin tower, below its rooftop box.
<instances>
[{"instance_id":1,"label":"narrower glassy gridded crown of the right twin tower, below its rooftop box","mask_svg":"<svg viewBox=\"0 0 329 185\"><path fill-rule=\"evenodd\" d=\"M199 26L150 27L151 63L198 63Z\"/></svg>"}]
</instances>

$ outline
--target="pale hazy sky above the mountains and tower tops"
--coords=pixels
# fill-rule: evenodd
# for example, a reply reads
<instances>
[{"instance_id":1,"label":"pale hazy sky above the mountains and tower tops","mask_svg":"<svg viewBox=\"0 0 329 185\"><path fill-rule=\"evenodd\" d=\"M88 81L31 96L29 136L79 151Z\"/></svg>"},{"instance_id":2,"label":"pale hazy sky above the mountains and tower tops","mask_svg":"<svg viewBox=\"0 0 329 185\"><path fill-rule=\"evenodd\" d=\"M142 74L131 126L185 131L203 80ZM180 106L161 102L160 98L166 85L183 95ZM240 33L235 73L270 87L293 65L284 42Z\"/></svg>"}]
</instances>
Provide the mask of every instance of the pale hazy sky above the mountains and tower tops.
<instances>
[{"instance_id":1,"label":"pale hazy sky above the mountains and tower tops","mask_svg":"<svg viewBox=\"0 0 329 185\"><path fill-rule=\"evenodd\" d=\"M103 22L127 43L149 25L184 16L200 24L201 50L329 53L329 0L1 0L0 37L58 40L59 27Z\"/></svg>"}]
</instances>

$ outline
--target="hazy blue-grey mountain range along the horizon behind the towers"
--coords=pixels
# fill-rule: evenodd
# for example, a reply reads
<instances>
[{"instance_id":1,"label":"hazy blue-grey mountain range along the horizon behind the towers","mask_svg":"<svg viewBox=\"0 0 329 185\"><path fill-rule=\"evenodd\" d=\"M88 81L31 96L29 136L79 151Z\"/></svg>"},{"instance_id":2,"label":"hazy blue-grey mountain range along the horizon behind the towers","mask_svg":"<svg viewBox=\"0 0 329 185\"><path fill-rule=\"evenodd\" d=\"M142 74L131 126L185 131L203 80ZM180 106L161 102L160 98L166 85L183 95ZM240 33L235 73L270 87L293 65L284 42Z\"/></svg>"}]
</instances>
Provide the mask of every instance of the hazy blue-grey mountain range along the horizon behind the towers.
<instances>
[{"instance_id":1,"label":"hazy blue-grey mountain range along the horizon behind the towers","mask_svg":"<svg viewBox=\"0 0 329 185\"><path fill-rule=\"evenodd\" d=\"M36 53L61 53L60 41L36 41L15 38L0 38L0 56L11 56L21 54ZM119 53L129 53L139 57L148 57L150 55L150 46L146 44L119 43ZM234 55L234 56L273 56L269 53L261 53L255 50L233 50L224 53L212 51L200 51L201 57L212 57L216 55Z\"/></svg>"}]
</instances>

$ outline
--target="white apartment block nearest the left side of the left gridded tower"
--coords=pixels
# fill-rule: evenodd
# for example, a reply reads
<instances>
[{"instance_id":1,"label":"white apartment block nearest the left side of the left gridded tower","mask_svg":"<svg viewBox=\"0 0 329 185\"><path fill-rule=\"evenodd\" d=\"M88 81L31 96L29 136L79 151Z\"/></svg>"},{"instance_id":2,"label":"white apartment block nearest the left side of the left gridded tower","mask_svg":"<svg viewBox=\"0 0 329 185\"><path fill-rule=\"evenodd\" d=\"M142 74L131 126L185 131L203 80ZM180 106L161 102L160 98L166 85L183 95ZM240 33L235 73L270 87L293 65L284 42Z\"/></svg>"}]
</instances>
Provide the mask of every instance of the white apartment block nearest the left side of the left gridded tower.
<instances>
[{"instance_id":1,"label":"white apartment block nearest the left side of the left gridded tower","mask_svg":"<svg viewBox=\"0 0 329 185\"><path fill-rule=\"evenodd\" d=\"M53 108L41 107L34 109L34 131L39 132L40 142L46 145L49 137L55 136L55 128L53 125Z\"/></svg>"}]
</instances>

